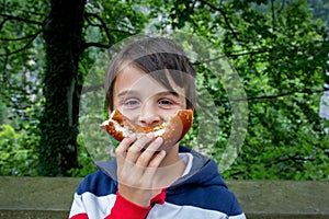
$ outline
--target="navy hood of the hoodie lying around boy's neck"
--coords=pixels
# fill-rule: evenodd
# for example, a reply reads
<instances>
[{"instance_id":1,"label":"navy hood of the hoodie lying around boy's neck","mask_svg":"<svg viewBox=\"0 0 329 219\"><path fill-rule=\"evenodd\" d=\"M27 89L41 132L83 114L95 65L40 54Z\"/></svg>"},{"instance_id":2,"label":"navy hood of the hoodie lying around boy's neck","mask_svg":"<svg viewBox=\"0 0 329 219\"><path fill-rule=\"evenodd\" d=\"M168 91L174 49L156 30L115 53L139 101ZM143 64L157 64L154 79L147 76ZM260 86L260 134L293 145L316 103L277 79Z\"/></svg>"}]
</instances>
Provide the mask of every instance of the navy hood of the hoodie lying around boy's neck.
<instances>
[{"instance_id":1,"label":"navy hood of the hoodie lying around boy's neck","mask_svg":"<svg viewBox=\"0 0 329 219\"><path fill-rule=\"evenodd\" d=\"M193 185L220 185L227 187L222 175L218 173L218 166L214 160L204 157L203 154L180 146L180 153L191 153L193 155L192 168L189 174L174 182L167 191L178 189L188 184ZM95 166L103 173L117 180L116 176L116 159L110 162L95 162Z\"/></svg>"}]
</instances>

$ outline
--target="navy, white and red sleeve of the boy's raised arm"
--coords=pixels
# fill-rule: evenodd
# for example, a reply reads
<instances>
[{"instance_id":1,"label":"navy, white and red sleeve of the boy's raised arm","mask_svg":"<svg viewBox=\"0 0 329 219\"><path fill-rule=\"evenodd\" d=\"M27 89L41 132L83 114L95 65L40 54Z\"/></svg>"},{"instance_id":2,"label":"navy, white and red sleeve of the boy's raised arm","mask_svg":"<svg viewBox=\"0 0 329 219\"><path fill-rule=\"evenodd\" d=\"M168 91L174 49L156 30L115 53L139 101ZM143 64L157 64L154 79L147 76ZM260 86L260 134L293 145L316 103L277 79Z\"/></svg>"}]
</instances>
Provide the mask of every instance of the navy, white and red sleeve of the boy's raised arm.
<instances>
[{"instance_id":1,"label":"navy, white and red sleeve of the boy's raised arm","mask_svg":"<svg viewBox=\"0 0 329 219\"><path fill-rule=\"evenodd\" d=\"M151 204L162 204L164 197L163 191L151 200ZM125 199L121 196L116 186L113 186L111 182L109 183L109 177L102 178L92 175L86 177L78 186L69 219L144 219L150 211L151 206L141 207Z\"/></svg>"}]
</instances>

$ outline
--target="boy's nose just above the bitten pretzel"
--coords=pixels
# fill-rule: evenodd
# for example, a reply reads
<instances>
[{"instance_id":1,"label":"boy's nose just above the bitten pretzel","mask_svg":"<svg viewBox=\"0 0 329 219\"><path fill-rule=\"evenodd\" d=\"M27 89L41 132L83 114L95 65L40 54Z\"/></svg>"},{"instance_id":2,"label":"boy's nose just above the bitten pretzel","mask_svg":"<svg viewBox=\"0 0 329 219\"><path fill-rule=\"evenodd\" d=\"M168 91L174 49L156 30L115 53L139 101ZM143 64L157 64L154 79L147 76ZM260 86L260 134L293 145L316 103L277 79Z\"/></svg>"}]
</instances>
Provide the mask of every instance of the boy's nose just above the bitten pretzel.
<instances>
[{"instance_id":1,"label":"boy's nose just above the bitten pretzel","mask_svg":"<svg viewBox=\"0 0 329 219\"><path fill-rule=\"evenodd\" d=\"M138 120L141 126L150 127L159 125L161 123L161 117L158 114L156 106L152 106L150 104L144 104L140 110Z\"/></svg>"}]
</instances>

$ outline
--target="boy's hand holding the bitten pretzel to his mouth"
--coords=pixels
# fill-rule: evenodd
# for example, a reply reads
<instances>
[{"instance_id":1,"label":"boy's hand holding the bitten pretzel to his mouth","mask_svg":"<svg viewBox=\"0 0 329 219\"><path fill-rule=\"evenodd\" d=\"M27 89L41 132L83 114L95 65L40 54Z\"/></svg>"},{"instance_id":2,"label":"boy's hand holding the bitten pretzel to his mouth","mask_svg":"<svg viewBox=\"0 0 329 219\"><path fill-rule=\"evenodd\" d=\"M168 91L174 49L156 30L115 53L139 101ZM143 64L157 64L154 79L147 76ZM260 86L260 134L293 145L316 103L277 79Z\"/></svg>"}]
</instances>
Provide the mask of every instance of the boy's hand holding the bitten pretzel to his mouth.
<instances>
[{"instance_id":1,"label":"boy's hand holding the bitten pretzel to his mouth","mask_svg":"<svg viewBox=\"0 0 329 219\"><path fill-rule=\"evenodd\" d=\"M139 139L125 138L116 148L118 193L138 206L150 205L155 175L166 157L166 151L158 151L162 142L150 132Z\"/></svg>"}]
</instances>

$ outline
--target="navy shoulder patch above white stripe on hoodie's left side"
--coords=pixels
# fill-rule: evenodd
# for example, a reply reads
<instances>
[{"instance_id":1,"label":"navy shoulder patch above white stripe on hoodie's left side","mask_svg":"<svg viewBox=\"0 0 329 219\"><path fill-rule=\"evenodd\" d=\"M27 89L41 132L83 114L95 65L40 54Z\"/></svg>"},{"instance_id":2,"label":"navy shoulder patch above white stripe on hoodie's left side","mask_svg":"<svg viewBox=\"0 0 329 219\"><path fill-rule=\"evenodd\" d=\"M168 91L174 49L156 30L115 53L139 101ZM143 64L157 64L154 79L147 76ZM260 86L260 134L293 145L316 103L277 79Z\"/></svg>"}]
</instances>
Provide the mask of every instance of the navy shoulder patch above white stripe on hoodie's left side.
<instances>
[{"instance_id":1,"label":"navy shoulder patch above white stripe on hoodie's left side","mask_svg":"<svg viewBox=\"0 0 329 219\"><path fill-rule=\"evenodd\" d=\"M92 193L97 196L104 196L116 192L116 182L102 171L87 175L77 188L77 194Z\"/></svg>"}]
</instances>

